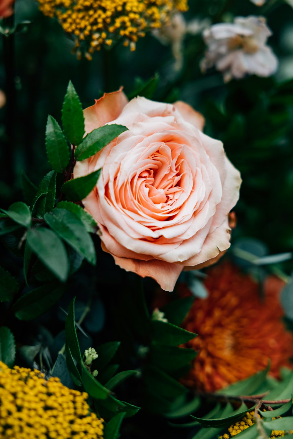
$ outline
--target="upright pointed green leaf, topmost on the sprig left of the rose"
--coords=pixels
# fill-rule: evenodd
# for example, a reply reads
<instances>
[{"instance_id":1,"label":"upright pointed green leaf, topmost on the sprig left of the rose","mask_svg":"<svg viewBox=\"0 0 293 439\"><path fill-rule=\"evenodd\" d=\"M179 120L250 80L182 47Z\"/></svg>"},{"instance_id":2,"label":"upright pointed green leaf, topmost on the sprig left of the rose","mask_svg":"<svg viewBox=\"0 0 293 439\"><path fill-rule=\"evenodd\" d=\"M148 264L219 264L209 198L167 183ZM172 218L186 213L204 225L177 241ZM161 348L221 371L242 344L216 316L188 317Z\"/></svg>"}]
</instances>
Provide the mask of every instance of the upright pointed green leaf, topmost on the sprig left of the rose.
<instances>
[{"instance_id":1,"label":"upright pointed green leaf, topmost on the sprig left of the rose","mask_svg":"<svg viewBox=\"0 0 293 439\"><path fill-rule=\"evenodd\" d=\"M75 146L80 144L84 134L83 109L71 81L63 102L62 124L67 140Z\"/></svg>"}]
</instances>

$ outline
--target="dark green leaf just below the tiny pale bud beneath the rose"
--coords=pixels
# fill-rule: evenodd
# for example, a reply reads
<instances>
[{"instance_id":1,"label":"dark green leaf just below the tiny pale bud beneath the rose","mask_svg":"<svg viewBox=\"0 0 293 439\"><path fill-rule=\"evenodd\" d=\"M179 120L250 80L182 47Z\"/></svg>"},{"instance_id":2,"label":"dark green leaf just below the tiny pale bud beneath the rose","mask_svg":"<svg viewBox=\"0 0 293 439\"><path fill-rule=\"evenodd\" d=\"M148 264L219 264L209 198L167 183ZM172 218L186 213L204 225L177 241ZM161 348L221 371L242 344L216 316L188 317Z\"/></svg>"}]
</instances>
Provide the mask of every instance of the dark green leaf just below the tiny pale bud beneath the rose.
<instances>
[{"instance_id":1,"label":"dark green leaf just below the tiny pale bud beneath the rose","mask_svg":"<svg viewBox=\"0 0 293 439\"><path fill-rule=\"evenodd\" d=\"M160 320L152 320L151 331L152 341L162 345L177 346L196 337L192 332Z\"/></svg>"}]
</instances>

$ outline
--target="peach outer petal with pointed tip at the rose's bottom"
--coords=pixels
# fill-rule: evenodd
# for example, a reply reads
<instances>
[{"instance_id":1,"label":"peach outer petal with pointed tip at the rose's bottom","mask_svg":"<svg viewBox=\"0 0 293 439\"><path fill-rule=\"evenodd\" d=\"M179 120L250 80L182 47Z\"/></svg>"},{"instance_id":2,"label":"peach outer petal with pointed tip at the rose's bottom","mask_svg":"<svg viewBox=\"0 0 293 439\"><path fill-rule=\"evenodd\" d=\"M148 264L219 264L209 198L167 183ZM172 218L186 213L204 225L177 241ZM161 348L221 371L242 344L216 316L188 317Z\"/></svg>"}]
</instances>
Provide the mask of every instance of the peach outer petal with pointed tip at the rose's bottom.
<instances>
[{"instance_id":1,"label":"peach outer petal with pointed tip at the rose's bottom","mask_svg":"<svg viewBox=\"0 0 293 439\"><path fill-rule=\"evenodd\" d=\"M165 291L173 291L179 274L183 267L177 264L152 259L141 261L137 259L118 258L113 255L116 265L126 271L132 271L141 277L152 277L158 282L159 286Z\"/></svg>"}]
</instances>

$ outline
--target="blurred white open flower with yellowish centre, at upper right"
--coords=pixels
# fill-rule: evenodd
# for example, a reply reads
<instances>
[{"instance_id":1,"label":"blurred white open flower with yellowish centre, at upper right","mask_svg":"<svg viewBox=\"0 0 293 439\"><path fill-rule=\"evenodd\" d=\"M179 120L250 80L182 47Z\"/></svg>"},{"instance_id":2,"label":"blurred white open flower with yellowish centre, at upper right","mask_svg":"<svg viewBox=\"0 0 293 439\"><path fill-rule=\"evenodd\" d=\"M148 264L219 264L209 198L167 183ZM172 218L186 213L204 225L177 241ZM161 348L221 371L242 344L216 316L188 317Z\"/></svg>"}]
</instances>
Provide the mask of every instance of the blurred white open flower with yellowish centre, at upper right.
<instances>
[{"instance_id":1,"label":"blurred white open flower with yellowish centre, at upper right","mask_svg":"<svg viewBox=\"0 0 293 439\"><path fill-rule=\"evenodd\" d=\"M213 65L224 74L224 81L246 74L271 76L278 59L267 46L271 30L264 17L236 17L233 23L219 23L205 29L208 50L201 62L202 71Z\"/></svg>"}]
</instances>

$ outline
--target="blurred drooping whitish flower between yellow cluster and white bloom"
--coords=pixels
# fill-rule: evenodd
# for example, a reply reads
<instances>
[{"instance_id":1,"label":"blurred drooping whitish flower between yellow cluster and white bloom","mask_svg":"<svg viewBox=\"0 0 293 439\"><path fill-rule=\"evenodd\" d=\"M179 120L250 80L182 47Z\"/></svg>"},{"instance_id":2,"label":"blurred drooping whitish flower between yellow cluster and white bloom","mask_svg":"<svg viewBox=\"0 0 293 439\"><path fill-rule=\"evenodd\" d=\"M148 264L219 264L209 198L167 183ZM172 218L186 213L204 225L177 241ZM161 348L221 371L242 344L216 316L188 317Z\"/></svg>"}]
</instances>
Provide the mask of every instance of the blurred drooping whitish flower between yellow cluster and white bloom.
<instances>
[{"instance_id":1,"label":"blurred drooping whitish flower between yellow cluster and white bloom","mask_svg":"<svg viewBox=\"0 0 293 439\"><path fill-rule=\"evenodd\" d=\"M152 34L160 43L171 45L172 54L175 58L174 69L181 70L183 66L183 41L187 34L196 35L203 32L210 25L210 20L199 20L195 18L186 22L183 14L177 13L172 15L170 22L159 29L154 29Z\"/></svg>"}]
</instances>

